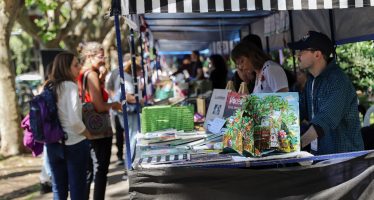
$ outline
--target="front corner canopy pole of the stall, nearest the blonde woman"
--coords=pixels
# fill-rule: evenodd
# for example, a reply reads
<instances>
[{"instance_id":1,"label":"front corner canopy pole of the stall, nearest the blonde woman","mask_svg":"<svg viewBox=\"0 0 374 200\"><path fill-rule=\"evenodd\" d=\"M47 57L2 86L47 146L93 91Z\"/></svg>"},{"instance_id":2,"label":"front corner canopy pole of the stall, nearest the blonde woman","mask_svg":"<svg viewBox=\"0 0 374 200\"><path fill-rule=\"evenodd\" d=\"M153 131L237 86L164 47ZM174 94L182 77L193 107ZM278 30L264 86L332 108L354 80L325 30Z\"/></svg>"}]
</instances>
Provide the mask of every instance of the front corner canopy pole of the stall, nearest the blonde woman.
<instances>
[{"instance_id":1,"label":"front corner canopy pole of the stall, nearest the blonde woman","mask_svg":"<svg viewBox=\"0 0 374 200\"><path fill-rule=\"evenodd\" d=\"M120 1L113 1L120 3ZM127 170L132 170L132 160L131 160L131 150L130 150L130 137L129 137L129 123L128 123L128 116L127 116L127 104L126 104L126 90L125 90L125 81L124 81L124 73L123 73L123 60L122 60L122 44L121 44L121 31L120 31L120 23L119 23L119 15L121 14L121 6L113 6L112 10L114 14L114 25L116 29L116 38L117 38L117 49L118 49L118 66L119 66L119 75L120 75L120 83L121 83L121 104L123 110L123 121L125 122L125 147L126 147L126 162L125 167Z\"/></svg>"}]
</instances>

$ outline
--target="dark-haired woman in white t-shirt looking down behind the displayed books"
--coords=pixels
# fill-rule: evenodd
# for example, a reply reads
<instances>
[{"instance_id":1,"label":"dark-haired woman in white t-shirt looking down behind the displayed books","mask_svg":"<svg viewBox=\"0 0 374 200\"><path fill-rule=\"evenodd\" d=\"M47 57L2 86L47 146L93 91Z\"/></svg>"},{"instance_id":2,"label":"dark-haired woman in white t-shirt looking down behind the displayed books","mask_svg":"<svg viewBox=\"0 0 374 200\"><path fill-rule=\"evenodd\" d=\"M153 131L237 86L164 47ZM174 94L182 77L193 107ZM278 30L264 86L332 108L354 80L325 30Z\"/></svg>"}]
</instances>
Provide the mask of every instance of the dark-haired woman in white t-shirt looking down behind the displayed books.
<instances>
[{"instance_id":1,"label":"dark-haired woman in white t-shirt looking down behind the displayed books","mask_svg":"<svg viewBox=\"0 0 374 200\"><path fill-rule=\"evenodd\" d=\"M238 71L256 73L254 93L288 92L288 81L283 68L257 46L239 43L232 51Z\"/></svg>"}]
</instances>

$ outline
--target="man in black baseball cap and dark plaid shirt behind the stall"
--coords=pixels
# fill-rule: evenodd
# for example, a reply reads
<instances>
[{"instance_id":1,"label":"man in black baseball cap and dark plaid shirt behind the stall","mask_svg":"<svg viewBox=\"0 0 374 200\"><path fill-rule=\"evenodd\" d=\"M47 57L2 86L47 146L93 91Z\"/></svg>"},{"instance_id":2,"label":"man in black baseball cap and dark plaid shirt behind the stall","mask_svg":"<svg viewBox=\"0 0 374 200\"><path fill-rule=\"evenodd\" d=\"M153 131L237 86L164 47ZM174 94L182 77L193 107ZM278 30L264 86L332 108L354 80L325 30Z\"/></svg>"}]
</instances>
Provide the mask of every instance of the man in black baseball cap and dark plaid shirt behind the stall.
<instances>
[{"instance_id":1,"label":"man in black baseball cap and dark plaid shirt behind the stall","mask_svg":"<svg viewBox=\"0 0 374 200\"><path fill-rule=\"evenodd\" d=\"M363 150L356 90L333 58L332 41L309 31L288 46L297 51L300 69L309 72L300 98L301 119L309 123L301 146L311 144L319 155Z\"/></svg>"}]
</instances>

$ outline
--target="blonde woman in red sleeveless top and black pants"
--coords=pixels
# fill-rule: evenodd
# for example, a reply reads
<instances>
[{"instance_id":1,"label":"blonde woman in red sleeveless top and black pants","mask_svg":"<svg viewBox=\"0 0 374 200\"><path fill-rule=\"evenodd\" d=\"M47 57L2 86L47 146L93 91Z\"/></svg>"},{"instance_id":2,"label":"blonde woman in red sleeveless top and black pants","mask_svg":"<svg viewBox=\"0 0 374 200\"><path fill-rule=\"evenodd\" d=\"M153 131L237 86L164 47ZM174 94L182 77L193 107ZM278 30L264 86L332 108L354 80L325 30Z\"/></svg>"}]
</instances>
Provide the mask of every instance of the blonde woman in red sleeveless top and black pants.
<instances>
[{"instance_id":1,"label":"blonde woman in red sleeveless top and black pants","mask_svg":"<svg viewBox=\"0 0 374 200\"><path fill-rule=\"evenodd\" d=\"M91 102L97 112L109 112L110 109L120 110L119 102L107 103L108 93L104 89L106 69L104 67L105 57L103 46L98 42L85 43L81 48L81 58L83 67L80 71L78 81L80 88L87 88L84 92L85 102ZM83 87L83 79L86 77L86 85ZM107 174L110 164L112 135L91 142L91 162L89 163L89 173L87 177L87 196L89 198L89 188L94 178L95 189L93 198L104 199L107 185Z\"/></svg>"}]
</instances>

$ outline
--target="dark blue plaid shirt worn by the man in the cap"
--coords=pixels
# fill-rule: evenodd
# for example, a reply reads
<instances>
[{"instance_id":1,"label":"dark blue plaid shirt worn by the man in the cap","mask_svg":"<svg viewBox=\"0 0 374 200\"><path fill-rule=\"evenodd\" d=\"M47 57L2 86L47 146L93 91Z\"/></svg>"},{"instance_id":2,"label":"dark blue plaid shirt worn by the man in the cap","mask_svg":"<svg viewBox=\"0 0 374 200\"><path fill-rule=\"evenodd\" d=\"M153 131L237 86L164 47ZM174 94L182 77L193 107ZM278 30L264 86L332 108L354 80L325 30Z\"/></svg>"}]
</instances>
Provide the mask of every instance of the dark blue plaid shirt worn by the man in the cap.
<instances>
[{"instance_id":1,"label":"dark blue plaid shirt worn by the man in the cap","mask_svg":"<svg viewBox=\"0 0 374 200\"><path fill-rule=\"evenodd\" d=\"M318 137L316 154L363 150L356 91L335 61L316 78L309 75L304 92L304 98L300 98L301 119L324 132Z\"/></svg>"}]
</instances>

